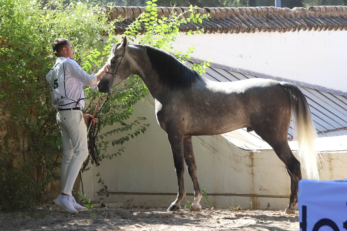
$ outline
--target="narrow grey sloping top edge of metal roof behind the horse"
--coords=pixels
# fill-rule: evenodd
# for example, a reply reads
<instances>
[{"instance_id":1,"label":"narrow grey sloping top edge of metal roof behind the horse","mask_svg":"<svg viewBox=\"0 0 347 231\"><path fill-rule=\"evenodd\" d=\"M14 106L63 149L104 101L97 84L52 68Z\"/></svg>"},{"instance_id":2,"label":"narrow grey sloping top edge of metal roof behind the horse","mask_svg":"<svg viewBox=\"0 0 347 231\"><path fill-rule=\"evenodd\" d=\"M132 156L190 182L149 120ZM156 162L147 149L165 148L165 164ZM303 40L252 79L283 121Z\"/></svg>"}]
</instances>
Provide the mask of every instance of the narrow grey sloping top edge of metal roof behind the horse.
<instances>
[{"instance_id":1,"label":"narrow grey sloping top edge of metal roof behind the horse","mask_svg":"<svg viewBox=\"0 0 347 231\"><path fill-rule=\"evenodd\" d=\"M195 63L202 63L203 62L203 60L196 59L196 58L193 58L193 57L188 59L188 60L192 61L192 62L195 62ZM263 74L263 73L259 73L259 72L255 72L255 71L245 70L245 69L242 69L242 68L233 68L231 66L221 65L221 64L218 64L218 63L210 62L210 65L212 67L216 67L216 68L223 68L223 69L225 69L227 71L236 71L236 72L240 72L242 74L253 75L253 76L256 76L256 77L259 77L259 78L273 79L273 80L283 81L283 82L290 82L290 83L294 83L295 85L308 87L308 88L312 88L312 89L325 91L325 92L329 92L329 93L332 93L332 94L336 94L336 95L346 96L347 97L347 92L340 91L340 90L335 90L335 89L331 89L331 88L326 88L326 87L322 87L322 86L318 86L318 85L313 85L311 83L305 83L305 82L301 82L301 81L280 78L280 77L276 77L276 76L273 76L273 75L268 75L268 74Z\"/></svg>"}]
</instances>

